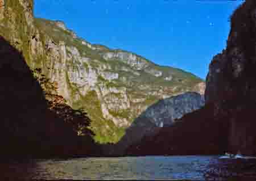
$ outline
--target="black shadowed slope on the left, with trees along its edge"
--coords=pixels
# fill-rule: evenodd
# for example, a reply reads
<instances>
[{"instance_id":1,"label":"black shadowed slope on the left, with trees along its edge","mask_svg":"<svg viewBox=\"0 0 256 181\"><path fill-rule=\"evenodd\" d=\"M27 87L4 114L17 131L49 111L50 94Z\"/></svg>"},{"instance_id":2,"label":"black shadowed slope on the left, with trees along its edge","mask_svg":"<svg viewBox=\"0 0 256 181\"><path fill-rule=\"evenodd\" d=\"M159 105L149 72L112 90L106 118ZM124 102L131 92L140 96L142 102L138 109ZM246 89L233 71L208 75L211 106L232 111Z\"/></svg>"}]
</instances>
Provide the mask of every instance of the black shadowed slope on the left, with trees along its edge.
<instances>
[{"instance_id":1,"label":"black shadowed slope on the left, with trees along its edge","mask_svg":"<svg viewBox=\"0 0 256 181\"><path fill-rule=\"evenodd\" d=\"M22 52L0 36L1 157L44 158L96 154L86 113L54 104L30 70ZM61 115L61 110L63 114ZM71 118L70 118L71 117ZM84 126L85 136L76 127Z\"/></svg>"}]
</instances>

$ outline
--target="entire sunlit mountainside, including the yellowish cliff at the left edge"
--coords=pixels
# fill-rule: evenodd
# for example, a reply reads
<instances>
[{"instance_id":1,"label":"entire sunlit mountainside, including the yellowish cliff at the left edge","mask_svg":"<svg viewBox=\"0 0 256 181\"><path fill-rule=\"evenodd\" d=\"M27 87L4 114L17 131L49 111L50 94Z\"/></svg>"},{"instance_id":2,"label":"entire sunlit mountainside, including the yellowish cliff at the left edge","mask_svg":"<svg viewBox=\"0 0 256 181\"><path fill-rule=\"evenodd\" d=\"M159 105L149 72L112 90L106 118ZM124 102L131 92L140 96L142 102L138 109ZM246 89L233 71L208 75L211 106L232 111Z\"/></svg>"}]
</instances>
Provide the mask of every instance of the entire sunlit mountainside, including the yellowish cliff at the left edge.
<instances>
[{"instance_id":1,"label":"entire sunlit mountainside, including the yellowish cliff at the left edge","mask_svg":"<svg viewBox=\"0 0 256 181\"><path fill-rule=\"evenodd\" d=\"M61 21L34 18L32 0L0 2L0 35L57 87L46 87L48 93L88 113L97 142L120 140L133 120L160 99L204 92L204 81L191 73L90 44Z\"/></svg>"}]
</instances>

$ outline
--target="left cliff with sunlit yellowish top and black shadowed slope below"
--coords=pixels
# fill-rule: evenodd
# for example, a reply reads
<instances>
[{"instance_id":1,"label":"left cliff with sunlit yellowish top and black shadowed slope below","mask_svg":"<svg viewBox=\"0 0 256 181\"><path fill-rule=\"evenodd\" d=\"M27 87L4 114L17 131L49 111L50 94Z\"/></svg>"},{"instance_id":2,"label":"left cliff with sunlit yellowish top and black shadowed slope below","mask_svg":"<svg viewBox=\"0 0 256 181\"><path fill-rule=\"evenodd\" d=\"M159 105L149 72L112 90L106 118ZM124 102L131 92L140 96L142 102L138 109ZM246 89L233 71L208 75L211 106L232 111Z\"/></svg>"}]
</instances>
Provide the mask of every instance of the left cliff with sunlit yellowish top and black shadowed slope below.
<instances>
[{"instance_id":1,"label":"left cliff with sunlit yellowish top and black shadowed slope below","mask_svg":"<svg viewBox=\"0 0 256 181\"><path fill-rule=\"evenodd\" d=\"M56 92L55 83L28 66L37 31L32 1L1 0L0 5L1 157L97 153L86 113L51 94Z\"/></svg>"}]
</instances>

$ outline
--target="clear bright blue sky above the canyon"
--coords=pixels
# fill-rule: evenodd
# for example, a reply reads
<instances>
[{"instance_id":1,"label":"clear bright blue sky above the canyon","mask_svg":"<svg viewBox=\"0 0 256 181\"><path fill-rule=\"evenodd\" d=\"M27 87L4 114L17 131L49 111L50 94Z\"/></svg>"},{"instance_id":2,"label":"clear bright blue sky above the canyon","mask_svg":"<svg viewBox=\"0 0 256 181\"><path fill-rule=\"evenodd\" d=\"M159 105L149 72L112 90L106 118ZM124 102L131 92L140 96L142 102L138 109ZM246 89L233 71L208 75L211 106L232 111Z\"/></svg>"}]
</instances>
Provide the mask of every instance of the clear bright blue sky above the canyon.
<instances>
[{"instance_id":1,"label":"clear bright blue sky above the canyon","mask_svg":"<svg viewBox=\"0 0 256 181\"><path fill-rule=\"evenodd\" d=\"M140 54L205 78L226 46L230 15L241 1L35 0L35 16L63 20L93 44Z\"/></svg>"}]
</instances>

